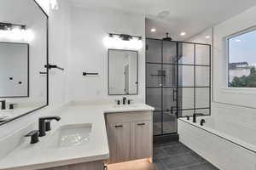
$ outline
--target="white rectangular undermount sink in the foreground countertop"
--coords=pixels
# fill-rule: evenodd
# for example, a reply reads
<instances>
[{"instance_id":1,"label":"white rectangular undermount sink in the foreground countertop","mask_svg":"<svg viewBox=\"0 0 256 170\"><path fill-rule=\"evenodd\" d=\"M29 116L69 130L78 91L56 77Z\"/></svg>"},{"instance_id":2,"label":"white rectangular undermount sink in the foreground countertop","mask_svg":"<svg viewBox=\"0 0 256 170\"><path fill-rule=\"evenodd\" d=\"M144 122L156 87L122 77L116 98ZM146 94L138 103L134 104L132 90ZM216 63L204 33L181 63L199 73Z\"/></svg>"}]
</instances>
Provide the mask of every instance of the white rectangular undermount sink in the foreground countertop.
<instances>
[{"instance_id":1,"label":"white rectangular undermount sink in the foreground countertop","mask_svg":"<svg viewBox=\"0 0 256 170\"><path fill-rule=\"evenodd\" d=\"M90 141L92 124L74 124L59 127L54 135L55 147L72 147L87 144Z\"/></svg>"}]
</instances>

